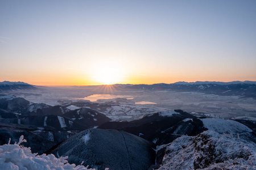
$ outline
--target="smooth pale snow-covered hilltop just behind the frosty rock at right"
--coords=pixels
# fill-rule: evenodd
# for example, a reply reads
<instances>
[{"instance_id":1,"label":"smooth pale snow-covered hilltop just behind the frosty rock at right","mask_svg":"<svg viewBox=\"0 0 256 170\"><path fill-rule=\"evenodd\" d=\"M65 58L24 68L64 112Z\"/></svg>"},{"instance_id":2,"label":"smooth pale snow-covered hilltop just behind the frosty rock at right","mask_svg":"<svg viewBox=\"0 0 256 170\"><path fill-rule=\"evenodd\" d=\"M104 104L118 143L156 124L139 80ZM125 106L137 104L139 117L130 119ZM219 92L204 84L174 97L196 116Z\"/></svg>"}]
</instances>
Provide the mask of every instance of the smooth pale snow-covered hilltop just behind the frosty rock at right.
<instances>
[{"instance_id":1,"label":"smooth pale snow-covered hilltop just behind the frosty rock at right","mask_svg":"<svg viewBox=\"0 0 256 170\"><path fill-rule=\"evenodd\" d=\"M208 130L217 131L220 134L240 134L252 131L247 126L233 120L225 120L222 118L202 118L200 120L203 121L205 128Z\"/></svg>"}]
</instances>

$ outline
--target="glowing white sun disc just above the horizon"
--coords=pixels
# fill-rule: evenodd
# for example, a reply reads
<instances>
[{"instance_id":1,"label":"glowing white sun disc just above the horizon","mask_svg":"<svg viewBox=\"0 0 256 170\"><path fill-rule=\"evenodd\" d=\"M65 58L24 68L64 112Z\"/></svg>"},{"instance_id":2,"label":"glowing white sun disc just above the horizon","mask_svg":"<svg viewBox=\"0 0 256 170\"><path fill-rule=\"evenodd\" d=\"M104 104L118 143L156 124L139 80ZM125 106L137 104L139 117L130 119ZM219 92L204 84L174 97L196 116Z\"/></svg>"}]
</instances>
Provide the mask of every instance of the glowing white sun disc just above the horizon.
<instances>
[{"instance_id":1,"label":"glowing white sun disc just above the horizon","mask_svg":"<svg viewBox=\"0 0 256 170\"><path fill-rule=\"evenodd\" d=\"M94 82L100 84L116 84L122 80L122 68L117 63L104 62L93 69Z\"/></svg>"}]
</instances>

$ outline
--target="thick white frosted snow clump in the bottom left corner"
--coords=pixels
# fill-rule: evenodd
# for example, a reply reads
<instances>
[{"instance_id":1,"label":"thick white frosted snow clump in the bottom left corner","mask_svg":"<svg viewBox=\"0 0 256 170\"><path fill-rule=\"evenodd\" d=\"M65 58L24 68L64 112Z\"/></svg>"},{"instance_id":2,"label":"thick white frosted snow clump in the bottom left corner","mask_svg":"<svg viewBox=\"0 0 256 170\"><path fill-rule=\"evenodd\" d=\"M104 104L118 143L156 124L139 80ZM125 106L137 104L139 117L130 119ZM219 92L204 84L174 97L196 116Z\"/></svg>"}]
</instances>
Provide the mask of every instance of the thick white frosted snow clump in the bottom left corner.
<instances>
[{"instance_id":1,"label":"thick white frosted snow clump in the bottom left corner","mask_svg":"<svg viewBox=\"0 0 256 170\"><path fill-rule=\"evenodd\" d=\"M26 142L23 136L18 143L0 146L0 169L7 170L34 170L34 169L88 169L83 165L69 164L68 156L56 158L54 155L32 154L30 147L23 147L20 143Z\"/></svg>"}]
</instances>

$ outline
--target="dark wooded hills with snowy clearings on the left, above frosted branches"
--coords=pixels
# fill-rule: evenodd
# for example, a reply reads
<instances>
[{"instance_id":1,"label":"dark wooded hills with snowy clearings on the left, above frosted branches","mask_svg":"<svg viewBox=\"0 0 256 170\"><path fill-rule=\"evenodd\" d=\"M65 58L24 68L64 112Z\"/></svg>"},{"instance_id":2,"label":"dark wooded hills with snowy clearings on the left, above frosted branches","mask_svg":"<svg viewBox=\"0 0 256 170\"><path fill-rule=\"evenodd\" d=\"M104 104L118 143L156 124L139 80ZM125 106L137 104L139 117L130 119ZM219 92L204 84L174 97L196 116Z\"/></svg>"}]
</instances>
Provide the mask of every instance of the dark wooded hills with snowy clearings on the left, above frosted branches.
<instances>
[{"instance_id":1,"label":"dark wooded hills with snowy clearings on the left, above frosted branches","mask_svg":"<svg viewBox=\"0 0 256 170\"><path fill-rule=\"evenodd\" d=\"M107 121L110 118L91 109L70 111L60 105L52 107L13 95L0 96L0 143L7 143L9 138L18 141L24 135L30 139L24 145L39 154L81 130Z\"/></svg>"}]
</instances>

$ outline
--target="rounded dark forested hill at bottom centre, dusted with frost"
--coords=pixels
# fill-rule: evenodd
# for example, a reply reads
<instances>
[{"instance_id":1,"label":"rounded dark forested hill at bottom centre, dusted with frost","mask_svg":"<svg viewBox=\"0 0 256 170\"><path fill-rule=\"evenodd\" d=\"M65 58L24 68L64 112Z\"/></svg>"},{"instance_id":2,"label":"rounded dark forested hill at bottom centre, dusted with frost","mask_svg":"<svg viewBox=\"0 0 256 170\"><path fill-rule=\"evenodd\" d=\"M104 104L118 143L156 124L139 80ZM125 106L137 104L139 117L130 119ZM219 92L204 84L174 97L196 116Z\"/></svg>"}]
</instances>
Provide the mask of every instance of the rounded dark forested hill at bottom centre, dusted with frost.
<instances>
[{"instance_id":1,"label":"rounded dark forested hill at bottom centre, dusted with frost","mask_svg":"<svg viewBox=\"0 0 256 170\"><path fill-rule=\"evenodd\" d=\"M96 169L148 169L155 164L151 147L150 142L124 131L88 129L67 139L52 154Z\"/></svg>"}]
</instances>

